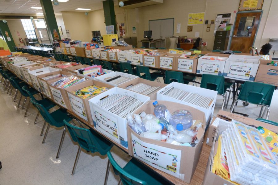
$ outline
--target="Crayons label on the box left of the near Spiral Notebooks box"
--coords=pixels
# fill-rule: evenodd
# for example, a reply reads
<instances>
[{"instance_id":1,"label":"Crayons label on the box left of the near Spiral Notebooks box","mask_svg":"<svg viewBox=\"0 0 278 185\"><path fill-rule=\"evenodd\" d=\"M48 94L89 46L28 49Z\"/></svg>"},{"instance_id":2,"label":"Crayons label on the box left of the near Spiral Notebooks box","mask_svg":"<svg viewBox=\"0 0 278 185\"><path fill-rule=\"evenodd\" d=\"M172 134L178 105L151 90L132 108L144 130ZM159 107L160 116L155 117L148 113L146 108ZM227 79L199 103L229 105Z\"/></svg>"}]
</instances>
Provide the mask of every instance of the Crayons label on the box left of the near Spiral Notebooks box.
<instances>
[{"instance_id":1,"label":"Crayons label on the box left of the near Spiral Notebooks box","mask_svg":"<svg viewBox=\"0 0 278 185\"><path fill-rule=\"evenodd\" d=\"M69 95L70 105L71 105L73 112L76 113L79 117L88 121L82 99L72 95L69 92L68 92L68 95Z\"/></svg>"}]
</instances>

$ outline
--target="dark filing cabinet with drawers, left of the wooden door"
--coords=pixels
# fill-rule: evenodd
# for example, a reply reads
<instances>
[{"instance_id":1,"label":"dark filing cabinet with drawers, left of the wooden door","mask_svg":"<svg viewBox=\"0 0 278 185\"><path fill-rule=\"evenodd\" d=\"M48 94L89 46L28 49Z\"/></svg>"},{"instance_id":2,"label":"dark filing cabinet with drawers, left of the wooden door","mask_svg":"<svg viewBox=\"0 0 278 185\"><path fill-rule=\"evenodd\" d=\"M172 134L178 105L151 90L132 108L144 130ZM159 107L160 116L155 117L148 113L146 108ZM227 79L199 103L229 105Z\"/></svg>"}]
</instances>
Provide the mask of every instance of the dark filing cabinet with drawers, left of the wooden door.
<instances>
[{"instance_id":1,"label":"dark filing cabinet with drawers, left of the wooden door","mask_svg":"<svg viewBox=\"0 0 278 185\"><path fill-rule=\"evenodd\" d=\"M213 50L227 50L228 42L229 42L230 30L228 31L216 31Z\"/></svg>"}]
</instances>

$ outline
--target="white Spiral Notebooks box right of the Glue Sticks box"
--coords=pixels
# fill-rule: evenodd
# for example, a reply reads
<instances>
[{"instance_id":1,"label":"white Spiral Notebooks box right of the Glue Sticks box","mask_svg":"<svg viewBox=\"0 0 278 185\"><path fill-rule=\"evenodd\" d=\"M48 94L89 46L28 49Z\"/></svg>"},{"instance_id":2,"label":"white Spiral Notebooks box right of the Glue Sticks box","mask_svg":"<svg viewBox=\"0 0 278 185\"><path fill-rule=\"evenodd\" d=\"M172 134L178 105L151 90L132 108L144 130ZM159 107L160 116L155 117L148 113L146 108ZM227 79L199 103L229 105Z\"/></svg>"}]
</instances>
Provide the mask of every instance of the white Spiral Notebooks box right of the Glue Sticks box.
<instances>
[{"instance_id":1,"label":"white Spiral Notebooks box right of the Glue Sticks box","mask_svg":"<svg viewBox=\"0 0 278 185\"><path fill-rule=\"evenodd\" d=\"M228 60L225 62L223 76L254 81L260 64L259 60L235 58L231 56L232 55L230 55Z\"/></svg>"}]
</instances>

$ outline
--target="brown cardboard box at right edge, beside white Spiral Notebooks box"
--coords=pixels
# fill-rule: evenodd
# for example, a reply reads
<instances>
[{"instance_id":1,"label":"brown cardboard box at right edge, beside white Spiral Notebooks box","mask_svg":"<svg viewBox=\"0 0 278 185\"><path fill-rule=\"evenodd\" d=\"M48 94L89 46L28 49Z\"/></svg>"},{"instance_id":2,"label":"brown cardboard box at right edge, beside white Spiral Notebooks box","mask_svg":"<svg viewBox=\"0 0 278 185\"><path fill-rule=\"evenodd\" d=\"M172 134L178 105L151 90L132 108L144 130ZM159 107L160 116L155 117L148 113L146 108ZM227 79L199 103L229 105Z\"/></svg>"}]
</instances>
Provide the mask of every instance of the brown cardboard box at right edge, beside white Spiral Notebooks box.
<instances>
[{"instance_id":1,"label":"brown cardboard box at right edge, beside white Spiral Notebooks box","mask_svg":"<svg viewBox=\"0 0 278 185\"><path fill-rule=\"evenodd\" d=\"M260 60L260 65L255 77L255 82L278 86L278 66L267 65L272 60ZM274 63L278 62L273 60Z\"/></svg>"}]
</instances>

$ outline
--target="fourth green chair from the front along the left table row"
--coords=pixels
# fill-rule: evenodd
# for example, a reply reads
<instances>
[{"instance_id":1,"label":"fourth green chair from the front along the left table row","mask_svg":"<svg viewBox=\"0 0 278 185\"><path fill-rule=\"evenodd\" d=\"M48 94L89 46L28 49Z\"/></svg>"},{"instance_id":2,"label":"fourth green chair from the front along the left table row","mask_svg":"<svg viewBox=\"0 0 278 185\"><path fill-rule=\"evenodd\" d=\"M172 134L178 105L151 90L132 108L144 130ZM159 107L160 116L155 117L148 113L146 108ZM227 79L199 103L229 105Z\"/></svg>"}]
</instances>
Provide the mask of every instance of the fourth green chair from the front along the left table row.
<instances>
[{"instance_id":1,"label":"fourth green chair from the front along the left table row","mask_svg":"<svg viewBox=\"0 0 278 185\"><path fill-rule=\"evenodd\" d=\"M22 87L22 90L25 91L25 92L29 95L30 100L33 100L33 101L35 101L36 103L43 105L47 111L49 111L49 109L53 108L53 107L56 105L53 101L51 101L51 100L49 100L49 99L47 99L47 98L44 98L44 99L42 99L42 100L36 100L36 98L35 98L35 97L33 96L33 94L29 91L29 88L28 88L26 85ZM29 104L30 104L30 101L29 101L29 103L28 103L28 107L29 107ZM35 107L36 107L36 106L35 106ZM37 108L37 107L36 107L36 108ZM27 108L27 109L28 109L28 108ZM37 108L37 109L38 109L38 108ZM39 109L38 109L38 110L39 110ZM25 113L24 117L26 117L26 115L27 115L27 110L26 110L26 113ZM38 113L37 113L37 116L36 116L36 119L35 119L35 121L34 121L34 124L37 123L37 120L38 120L39 115L40 115L40 111L38 111ZM45 125L44 125L44 126L45 126ZM41 134L41 135L42 135L42 134Z\"/></svg>"}]
</instances>

